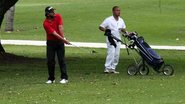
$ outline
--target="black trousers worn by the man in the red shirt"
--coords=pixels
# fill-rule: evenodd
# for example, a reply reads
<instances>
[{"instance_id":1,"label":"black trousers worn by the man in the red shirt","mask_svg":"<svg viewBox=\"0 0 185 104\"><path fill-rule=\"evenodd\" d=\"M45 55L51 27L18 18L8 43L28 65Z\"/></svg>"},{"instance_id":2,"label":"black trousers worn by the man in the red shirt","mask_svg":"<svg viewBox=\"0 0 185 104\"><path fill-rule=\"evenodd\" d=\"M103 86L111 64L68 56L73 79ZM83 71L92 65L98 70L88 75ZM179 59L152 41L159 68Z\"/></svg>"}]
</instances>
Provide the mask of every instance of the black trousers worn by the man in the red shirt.
<instances>
[{"instance_id":1,"label":"black trousers worn by the man in the red shirt","mask_svg":"<svg viewBox=\"0 0 185 104\"><path fill-rule=\"evenodd\" d=\"M47 66L48 80L55 80L55 54L57 54L58 63L60 66L61 79L68 80L66 63L65 63L65 47L63 42L47 41Z\"/></svg>"}]
</instances>

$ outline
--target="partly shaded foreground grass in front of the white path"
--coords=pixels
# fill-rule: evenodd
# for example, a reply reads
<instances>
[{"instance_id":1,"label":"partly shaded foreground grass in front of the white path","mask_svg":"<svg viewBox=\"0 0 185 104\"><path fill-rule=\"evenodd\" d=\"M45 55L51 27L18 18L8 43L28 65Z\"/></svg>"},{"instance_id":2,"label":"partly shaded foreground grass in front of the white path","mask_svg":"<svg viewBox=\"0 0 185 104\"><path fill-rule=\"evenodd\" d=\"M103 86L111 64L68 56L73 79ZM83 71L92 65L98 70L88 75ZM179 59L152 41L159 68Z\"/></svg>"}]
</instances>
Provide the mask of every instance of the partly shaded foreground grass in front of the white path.
<instances>
[{"instance_id":1,"label":"partly shaded foreground grass in front of the white path","mask_svg":"<svg viewBox=\"0 0 185 104\"><path fill-rule=\"evenodd\" d=\"M47 85L45 47L5 46L7 52L23 55L20 62L0 63L1 104L183 104L185 94L184 52L156 50L165 62L173 65L175 74L167 77L150 70L148 76L128 76L126 69L134 60L121 51L119 75L103 74L105 49L87 51L66 48L70 83ZM134 54L137 56L136 54ZM34 60L34 58L37 58ZM19 61L19 60L17 60ZM19 64L18 64L19 63Z\"/></svg>"}]
</instances>

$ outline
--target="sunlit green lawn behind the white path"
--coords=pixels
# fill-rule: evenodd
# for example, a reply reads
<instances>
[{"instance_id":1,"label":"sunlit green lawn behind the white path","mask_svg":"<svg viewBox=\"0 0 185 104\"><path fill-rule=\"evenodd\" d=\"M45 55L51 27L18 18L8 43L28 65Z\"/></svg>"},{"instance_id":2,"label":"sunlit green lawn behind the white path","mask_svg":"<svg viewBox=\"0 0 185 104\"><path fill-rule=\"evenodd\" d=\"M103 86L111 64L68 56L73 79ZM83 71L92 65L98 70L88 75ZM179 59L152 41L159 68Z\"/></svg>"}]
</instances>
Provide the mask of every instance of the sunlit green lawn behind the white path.
<instances>
[{"instance_id":1,"label":"sunlit green lawn behind the white path","mask_svg":"<svg viewBox=\"0 0 185 104\"><path fill-rule=\"evenodd\" d=\"M104 42L99 24L112 15L111 8L122 9L128 31L137 31L155 45L185 44L185 1L183 0L19 0L16 5L15 32L1 32L1 39L45 40L42 27L44 8L55 7L64 18L66 37L71 41ZM96 37L96 38L95 38ZM176 41L179 38L179 41Z\"/></svg>"}]
</instances>

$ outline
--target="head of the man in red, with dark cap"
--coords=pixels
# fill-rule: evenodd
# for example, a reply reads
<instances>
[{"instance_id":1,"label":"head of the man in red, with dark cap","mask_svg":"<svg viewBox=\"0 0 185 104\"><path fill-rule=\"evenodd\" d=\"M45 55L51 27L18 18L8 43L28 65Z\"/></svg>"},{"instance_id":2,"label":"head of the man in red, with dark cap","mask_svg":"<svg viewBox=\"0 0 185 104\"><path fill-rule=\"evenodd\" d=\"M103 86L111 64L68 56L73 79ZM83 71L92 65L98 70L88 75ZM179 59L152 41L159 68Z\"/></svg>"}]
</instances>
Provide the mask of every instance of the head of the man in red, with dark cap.
<instances>
[{"instance_id":1,"label":"head of the man in red, with dark cap","mask_svg":"<svg viewBox=\"0 0 185 104\"><path fill-rule=\"evenodd\" d=\"M55 15L54 10L55 10L55 9L54 9L53 7L47 6L47 7L45 8L45 16L46 16L47 18L54 18L54 15Z\"/></svg>"}]
</instances>

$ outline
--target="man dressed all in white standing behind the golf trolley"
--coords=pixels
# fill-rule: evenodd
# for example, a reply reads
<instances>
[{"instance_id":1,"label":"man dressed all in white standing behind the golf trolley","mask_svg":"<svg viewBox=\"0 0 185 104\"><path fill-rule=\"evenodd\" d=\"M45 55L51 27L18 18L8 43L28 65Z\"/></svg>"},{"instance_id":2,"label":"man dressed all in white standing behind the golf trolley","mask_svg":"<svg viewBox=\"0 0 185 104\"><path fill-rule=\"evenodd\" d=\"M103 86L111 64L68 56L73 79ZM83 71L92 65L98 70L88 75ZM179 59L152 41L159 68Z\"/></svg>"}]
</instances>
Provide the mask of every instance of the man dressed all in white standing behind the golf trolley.
<instances>
[{"instance_id":1,"label":"man dressed all in white standing behind the golf trolley","mask_svg":"<svg viewBox=\"0 0 185 104\"><path fill-rule=\"evenodd\" d=\"M126 32L126 25L123 19L120 17L120 8L118 6L114 6L112 8L113 15L107 17L99 26L101 31L106 31L107 29L111 30L111 34L118 39L121 39L121 32ZM114 39L113 39L114 40ZM116 66L119 62L119 54L120 54L120 46L121 43L114 40L113 45L112 42L106 37L107 42L107 57L105 61L105 73L119 73L116 71Z\"/></svg>"}]
</instances>

